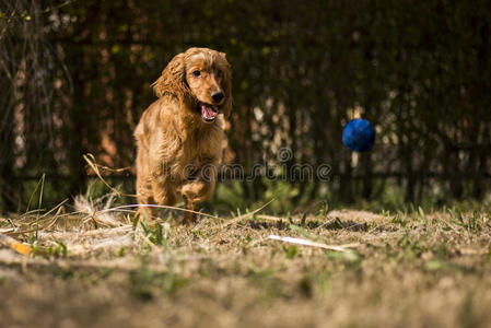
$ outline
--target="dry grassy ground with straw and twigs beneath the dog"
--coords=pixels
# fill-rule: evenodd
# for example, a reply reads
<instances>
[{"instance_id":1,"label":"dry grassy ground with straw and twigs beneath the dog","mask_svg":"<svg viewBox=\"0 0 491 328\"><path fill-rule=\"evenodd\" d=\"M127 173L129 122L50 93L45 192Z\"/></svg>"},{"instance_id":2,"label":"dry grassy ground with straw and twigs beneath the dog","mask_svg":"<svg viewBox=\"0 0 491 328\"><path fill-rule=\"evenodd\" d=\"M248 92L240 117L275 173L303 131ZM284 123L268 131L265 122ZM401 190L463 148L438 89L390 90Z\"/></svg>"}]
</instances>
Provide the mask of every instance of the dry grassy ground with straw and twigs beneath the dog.
<instances>
[{"instance_id":1,"label":"dry grassy ground with straw and twigs beneath the dog","mask_svg":"<svg viewBox=\"0 0 491 328\"><path fill-rule=\"evenodd\" d=\"M103 212L0 219L34 248L0 247L0 327L491 326L488 211Z\"/></svg>"}]
</instances>

